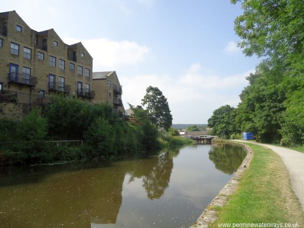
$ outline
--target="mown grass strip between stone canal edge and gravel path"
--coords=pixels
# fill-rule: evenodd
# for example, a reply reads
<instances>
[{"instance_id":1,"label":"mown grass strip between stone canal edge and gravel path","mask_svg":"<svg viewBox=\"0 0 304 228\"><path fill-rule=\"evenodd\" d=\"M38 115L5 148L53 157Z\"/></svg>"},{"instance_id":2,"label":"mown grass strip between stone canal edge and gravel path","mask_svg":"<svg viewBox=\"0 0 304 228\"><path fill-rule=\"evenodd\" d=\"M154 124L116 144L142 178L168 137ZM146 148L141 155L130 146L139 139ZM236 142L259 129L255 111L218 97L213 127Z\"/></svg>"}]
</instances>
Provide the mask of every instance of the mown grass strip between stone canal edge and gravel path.
<instances>
[{"instance_id":1,"label":"mown grass strip between stone canal edge and gravel path","mask_svg":"<svg viewBox=\"0 0 304 228\"><path fill-rule=\"evenodd\" d=\"M289 175L280 157L271 149L249 144L254 157L241 178L237 192L223 208L217 208L217 223L295 223L304 225L304 212L294 195Z\"/></svg>"}]
</instances>

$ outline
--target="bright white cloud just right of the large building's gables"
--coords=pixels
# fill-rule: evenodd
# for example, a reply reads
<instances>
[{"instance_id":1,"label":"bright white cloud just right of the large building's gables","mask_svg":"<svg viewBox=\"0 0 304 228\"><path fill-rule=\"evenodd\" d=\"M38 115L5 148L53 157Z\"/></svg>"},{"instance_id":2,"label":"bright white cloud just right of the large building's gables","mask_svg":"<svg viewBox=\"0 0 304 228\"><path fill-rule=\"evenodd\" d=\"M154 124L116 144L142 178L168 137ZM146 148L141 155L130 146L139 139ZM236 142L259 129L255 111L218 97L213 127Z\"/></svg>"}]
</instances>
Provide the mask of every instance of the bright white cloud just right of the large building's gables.
<instances>
[{"instance_id":1,"label":"bright white cloud just right of the large building's gables","mask_svg":"<svg viewBox=\"0 0 304 228\"><path fill-rule=\"evenodd\" d=\"M149 48L131 41L112 41L106 38L91 40L74 40L63 38L66 44L82 42L93 57L93 71L117 69L120 66L130 66L143 61L149 53Z\"/></svg>"}]
</instances>

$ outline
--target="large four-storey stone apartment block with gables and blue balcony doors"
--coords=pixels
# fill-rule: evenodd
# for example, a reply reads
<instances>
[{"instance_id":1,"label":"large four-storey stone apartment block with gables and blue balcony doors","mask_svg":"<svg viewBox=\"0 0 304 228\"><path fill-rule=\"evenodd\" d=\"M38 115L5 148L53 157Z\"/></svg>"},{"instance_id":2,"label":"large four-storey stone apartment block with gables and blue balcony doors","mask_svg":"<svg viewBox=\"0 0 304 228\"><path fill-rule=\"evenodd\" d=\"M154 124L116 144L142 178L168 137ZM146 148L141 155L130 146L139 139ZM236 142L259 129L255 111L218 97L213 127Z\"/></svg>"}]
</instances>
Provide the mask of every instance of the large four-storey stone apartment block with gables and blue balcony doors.
<instances>
[{"instance_id":1,"label":"large four-storey stone apartment block with gables and blue balcony doors","mask_svg":"<svg viewBox=\"0 0 304 228\"><path fill-rule=\"evenodd\" d=\"M54 29L35 31L15 11L0 13L0 90L92 101L92 67L82 43L67 45Z\"/></svg>"}]
</instances>

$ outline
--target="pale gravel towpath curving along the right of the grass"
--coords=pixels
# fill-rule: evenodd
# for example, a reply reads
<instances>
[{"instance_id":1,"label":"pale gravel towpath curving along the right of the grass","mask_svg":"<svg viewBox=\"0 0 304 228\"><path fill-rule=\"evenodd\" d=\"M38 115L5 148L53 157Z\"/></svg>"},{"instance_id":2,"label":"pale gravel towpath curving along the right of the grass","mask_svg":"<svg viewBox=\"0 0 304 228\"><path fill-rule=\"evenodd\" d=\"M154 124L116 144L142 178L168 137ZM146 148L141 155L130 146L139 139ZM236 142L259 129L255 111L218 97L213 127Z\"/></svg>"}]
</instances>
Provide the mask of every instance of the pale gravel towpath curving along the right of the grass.
<instances>
[{"instance_id":1,"label":"pale gravel towpath curving along the right of the grass","mask_svg":"<svg viewBox=\"0 0 304 228\"><path fill-rule=\"evenodd\" d=\"M282 158L284 165L289 171L292 188L301 203L302 209L304 210L304 153L300 153L293 149L258 142L245 140L233 141L262 145L275 151L275 153L277 153Z\"/></svg>"}]
</instances>

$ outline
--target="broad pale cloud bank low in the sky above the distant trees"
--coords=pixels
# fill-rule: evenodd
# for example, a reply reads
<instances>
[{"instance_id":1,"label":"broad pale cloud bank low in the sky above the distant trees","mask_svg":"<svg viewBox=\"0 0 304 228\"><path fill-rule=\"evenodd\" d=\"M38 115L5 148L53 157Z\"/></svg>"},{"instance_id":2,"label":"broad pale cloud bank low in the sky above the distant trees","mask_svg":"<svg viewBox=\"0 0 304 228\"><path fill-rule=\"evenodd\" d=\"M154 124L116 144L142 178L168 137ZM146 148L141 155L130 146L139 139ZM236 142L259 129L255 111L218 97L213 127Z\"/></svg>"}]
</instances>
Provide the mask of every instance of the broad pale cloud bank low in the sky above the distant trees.
<instances>
[{"instance_id":1,"label":"broad pale cloud bank low in the sky above the distant trees","mask_svg":"<svg viewBox=\"0 0 304 228\"><path fill-rule=\"evenodd\" d=\"M221 105L234 107L240 102L239 94L247 81L245 77L254 69L234 75L220 75L204 69L196 63L178 77L171 75L134 75L126 77L119 75L123 85L123 101L139 105L148 86L158 87L168 98L173 115L173 123L207 123L212 111ZM191 113L191 119L189 119Z\"/></svg>"}]
</instances>

